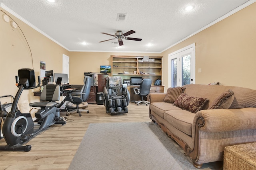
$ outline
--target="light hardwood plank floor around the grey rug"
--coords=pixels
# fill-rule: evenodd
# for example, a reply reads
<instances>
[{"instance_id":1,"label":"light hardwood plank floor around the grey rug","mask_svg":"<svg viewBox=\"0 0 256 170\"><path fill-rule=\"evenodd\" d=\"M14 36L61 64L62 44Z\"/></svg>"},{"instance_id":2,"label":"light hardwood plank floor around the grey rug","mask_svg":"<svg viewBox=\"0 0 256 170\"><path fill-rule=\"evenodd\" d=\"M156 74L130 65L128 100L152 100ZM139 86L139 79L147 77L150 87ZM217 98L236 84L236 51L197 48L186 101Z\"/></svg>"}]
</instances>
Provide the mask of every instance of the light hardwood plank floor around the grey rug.
<instances>
[{"instance_id":1,"label":"light hardwood plank floor around the grey rug","mask_svg":"<svg viewBox=\"0 0 256 170\"><path fill-rule=\"evenodd\" d=\"M52 125L31 139L29 152L1 151L0 170L67 170L90 123L151 121L145 105L131 103L127 114L118 115L107 114L103 105L89 104L87 109L89 113L72 113L66 125ZM4 139L0 145L6 145Z\"/></svg>"}]
</instances>

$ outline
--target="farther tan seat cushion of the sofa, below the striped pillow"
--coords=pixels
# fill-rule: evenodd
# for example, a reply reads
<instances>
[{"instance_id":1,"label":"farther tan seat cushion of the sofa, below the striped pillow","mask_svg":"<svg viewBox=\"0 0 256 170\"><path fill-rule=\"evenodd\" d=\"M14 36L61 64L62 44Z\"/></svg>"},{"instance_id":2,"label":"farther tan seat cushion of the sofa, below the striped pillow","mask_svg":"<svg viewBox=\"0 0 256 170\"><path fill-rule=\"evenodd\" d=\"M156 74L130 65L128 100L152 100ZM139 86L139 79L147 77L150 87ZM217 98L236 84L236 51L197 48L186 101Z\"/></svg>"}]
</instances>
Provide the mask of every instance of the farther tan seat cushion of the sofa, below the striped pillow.
<instances>
[{"instance_id":1,"label":"farther tan seat cushion of the sofa, below the striped pillow","mask_svg":"<svg viewBox=\"0 0 256 170\"><path fill-rule=\"evenodd\" d=\"M166 110L181 110L179 107L176 107L176 106L173 106L172 104L164 103L164 102L150 103L150 109L151 111L154 111L154 113L156 113L162 118L164 118L164 112Z\"/></svg>"}]
</instances>

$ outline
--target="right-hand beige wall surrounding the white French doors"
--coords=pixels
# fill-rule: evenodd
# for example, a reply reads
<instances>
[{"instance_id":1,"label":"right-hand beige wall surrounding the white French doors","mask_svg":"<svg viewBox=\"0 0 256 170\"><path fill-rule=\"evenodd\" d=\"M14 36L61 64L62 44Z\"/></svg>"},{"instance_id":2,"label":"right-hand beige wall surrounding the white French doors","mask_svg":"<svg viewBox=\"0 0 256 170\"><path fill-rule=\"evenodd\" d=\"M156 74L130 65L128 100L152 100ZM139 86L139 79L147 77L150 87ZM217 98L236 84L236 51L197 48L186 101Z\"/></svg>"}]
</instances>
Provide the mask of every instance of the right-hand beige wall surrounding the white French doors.
<instances>
[{"instance_id":1,"label":"right-hand beige wall surrounding the white French doors","mask_svg":"<svg viewBox=\"0 0 256 170\"><path fill-rule=\"evenodd\" d=\"M256 89L255 16L256 3L164 51L164 61L168 61L168 54L195 43L196 84L219 81L225 86ZM167 68L168 63L164 62L166 87ZM201 73L198 68L202 68Z\"/></svg>"}]
</instances>

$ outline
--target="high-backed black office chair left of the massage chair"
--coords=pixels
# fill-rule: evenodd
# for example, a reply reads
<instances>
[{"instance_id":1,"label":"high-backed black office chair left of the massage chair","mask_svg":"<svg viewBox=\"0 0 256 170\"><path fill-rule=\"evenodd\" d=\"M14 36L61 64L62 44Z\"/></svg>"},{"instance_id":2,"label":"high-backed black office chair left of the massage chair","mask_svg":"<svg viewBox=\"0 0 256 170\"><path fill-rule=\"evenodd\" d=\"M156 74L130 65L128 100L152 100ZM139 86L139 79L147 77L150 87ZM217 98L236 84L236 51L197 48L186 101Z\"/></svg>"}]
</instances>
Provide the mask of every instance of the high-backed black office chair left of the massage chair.
<instances>
[{"instance_id":1,"label":"high-backed black office chair left of the massage chair","mask_svg":"<svg viewBox=\"0 0 256 170\"><path fill-rule=\"evenodd\" d=\"M85 110L88 106L88 103L86 100L89 97L90 94L90 89L91 89L91 83L92 83L92 77L90 76L84 76L84 85L82 86L82 89L80 91L74 91L74 92L69 92L68 96L65 98L65 101L69 101L72 104L76 105L76 107L71 106L69 102L66 103L66 108L67 109L76 109L76 113L81 115L81 111L86 111L89 113L89 110Z\"/></svg>"}]
</instances>

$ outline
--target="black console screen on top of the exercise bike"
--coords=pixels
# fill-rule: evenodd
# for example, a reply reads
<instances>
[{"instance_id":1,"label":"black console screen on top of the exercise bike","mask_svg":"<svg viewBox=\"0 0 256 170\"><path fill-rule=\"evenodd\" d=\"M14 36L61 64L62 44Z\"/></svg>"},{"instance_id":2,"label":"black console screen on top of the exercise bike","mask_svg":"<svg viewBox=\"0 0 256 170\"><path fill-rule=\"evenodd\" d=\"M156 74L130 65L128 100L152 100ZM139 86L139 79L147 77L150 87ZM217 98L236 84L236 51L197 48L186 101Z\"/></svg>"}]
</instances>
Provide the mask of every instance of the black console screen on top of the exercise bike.
<instances>
[{"instance_id":1,"label":"black console screen on top of the exercise bike","mask_svg":"<svg viewBox=\"0 0 256 170\"><path fill-rule=\"evenodd\" d=\"M25 88L36 86L35 72L31 68L21 68L18 70L19 85L23 84Z\"/></svg>"}]
</instances>

